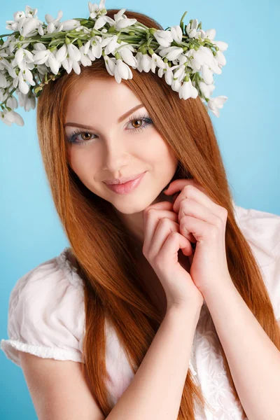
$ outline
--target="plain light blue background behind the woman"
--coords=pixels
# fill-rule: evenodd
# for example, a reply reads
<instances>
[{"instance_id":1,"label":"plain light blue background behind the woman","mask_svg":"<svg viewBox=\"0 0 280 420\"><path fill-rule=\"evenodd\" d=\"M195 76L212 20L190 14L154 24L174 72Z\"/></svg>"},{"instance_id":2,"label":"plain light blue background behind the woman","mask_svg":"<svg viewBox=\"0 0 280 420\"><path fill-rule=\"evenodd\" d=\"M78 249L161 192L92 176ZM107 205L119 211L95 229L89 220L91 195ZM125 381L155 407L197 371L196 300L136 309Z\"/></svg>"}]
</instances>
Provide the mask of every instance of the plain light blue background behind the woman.
<instances>
[{"instance_id":1,"label":"plain light blue background behind the woman","mask_svg":"<svg viewBox=\"0 0 280 420\"><path fill-rule=\"evenodd\" d=\"M1 5L0 34L11 34L6 20L25 10L27 3L5 1ZM62 21L87 18L87 1L37 0L38 18ZM174 6L172 6L174 5ZM127 8L146 13L162 27L202 21L202 29L216 29L216 40L228 43L227 64L214 74L213 97L228 97L220 118L211 111L235 203L280 215L279 200L279 2L107 0L106 8ZM6 40L6 37L4 38ZM25 126L8 127L1 133L1 293L0 339L8 338L8 299L15 282L27 271L58 255L68 241L60 225L45 178L36 137L36 109L15 109ZM0 352L1 419L37 419L20 367Z\"/></svg>"}]
</instances>

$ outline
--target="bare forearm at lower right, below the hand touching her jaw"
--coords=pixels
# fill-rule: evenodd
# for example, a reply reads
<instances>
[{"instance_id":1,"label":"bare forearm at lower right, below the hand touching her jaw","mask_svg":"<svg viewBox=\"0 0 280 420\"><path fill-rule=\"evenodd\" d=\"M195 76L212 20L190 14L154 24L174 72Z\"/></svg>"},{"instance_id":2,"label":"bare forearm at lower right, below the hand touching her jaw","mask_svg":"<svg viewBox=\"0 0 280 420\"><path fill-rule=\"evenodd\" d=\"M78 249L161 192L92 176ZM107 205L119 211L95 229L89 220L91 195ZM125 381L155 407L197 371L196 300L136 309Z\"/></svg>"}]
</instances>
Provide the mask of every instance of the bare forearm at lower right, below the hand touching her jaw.
<instances>
[{"instance_id":1,"label":"bare forearm at lower right, below the hand touching her jaw","mask_svg":"<svg viewBox=\"0 0 280 420\"><path fill-rule=\"evenodd\" d=\"M203 291L248 420L280 418L280 351L232 281Z\"/></svg>"}]
</instances>

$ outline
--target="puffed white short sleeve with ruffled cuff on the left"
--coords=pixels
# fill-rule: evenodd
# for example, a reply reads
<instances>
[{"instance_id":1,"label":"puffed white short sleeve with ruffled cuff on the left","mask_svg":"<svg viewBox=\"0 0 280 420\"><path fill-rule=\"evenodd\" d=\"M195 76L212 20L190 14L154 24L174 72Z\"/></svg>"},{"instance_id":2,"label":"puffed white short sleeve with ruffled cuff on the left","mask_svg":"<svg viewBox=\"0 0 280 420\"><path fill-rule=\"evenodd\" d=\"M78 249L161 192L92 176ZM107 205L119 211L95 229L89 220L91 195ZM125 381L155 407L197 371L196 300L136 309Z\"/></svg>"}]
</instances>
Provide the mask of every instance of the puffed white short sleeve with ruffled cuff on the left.
<instances>
[{"instance_id":1,"label":"puffed white short sleeve with ruffled cuff on the left","mask_svg":"<svg viewBox=\"0 0 280 420\"><path fill-rule=\"evenodd\" d=\"M41 358L82 361L85 312L83 283L52 258L22 276L10 293L7 358L20 366L18 351ZM77 276L76 276L77 278Z\"/></svg>"}]
</instances>

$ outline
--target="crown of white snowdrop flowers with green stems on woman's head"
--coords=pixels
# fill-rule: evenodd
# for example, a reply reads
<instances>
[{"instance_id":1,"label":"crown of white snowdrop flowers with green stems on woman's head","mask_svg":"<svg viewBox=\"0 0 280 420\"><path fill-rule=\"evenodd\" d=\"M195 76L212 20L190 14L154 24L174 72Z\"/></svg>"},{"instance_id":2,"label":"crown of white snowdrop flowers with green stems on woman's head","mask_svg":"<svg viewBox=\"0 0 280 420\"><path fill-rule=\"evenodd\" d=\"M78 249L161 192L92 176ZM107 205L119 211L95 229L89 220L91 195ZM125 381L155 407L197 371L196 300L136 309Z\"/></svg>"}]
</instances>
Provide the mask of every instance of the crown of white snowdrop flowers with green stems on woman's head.
<instances>
[{"instance_id":1,"label":"crown of white snowdrop flowers with green stems on woman's head","mask_svg":"<svg viewBox=\"0 0 280 420\"><path fill-rule=\"evenodd\" d=\"M215 116L228 99L218 96L210 99L215 89L213 74L221 74L226 64L223 51L228 44L214 41L215 29L202 30L202 22L192 19L165 30L148 28L128 19L125 8L114 15L106 16L105 0L88 2L88 19L76 18L59 22L45 15L45 22L36 16L37 9L29 6L13 14L14 20L6 21L6 29L13 34L0 35L0 116L3 123L24 125L19 105L30 111L36 106L36 97L44 85L62 75L62 67L80 74L80 65L90 66L102 57L107 71L117 83L132 78L133 69L158 71L165 75L167 85L179 92L180 99L200 96ZM8 36L3 41L3 36ZM200 72L202 73L200 75Z\"/></svg>"}]
</instances>

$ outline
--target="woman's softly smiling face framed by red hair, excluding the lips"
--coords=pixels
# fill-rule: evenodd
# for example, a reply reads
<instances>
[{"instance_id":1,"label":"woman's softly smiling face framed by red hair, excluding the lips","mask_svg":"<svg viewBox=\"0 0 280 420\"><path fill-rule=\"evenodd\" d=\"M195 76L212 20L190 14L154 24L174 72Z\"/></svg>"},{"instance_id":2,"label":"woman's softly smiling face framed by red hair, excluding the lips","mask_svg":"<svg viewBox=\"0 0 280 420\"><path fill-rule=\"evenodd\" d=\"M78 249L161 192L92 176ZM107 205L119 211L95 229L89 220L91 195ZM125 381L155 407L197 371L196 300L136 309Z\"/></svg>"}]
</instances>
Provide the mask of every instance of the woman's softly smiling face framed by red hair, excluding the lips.
<instances>
[{"instance_id":1,"label":"woman's softly smiling face framed by red hair, excluding the lips","mask_svg":"<svg viewBox=\"0 0 280 420\"><path fill-rule=\"evenodd\" d=\"M162 190L178 165L146 108L130 112L139 105L141 102L132 90L112 77L81 78L69 92L66 107L65 133L71 168L92 193L127 215L162 201ZM75 134L77 130L80 132ZM139 186L125 195L110 190L104 183L142 172L146 174Z\"/></svg>"}]
</instances>

